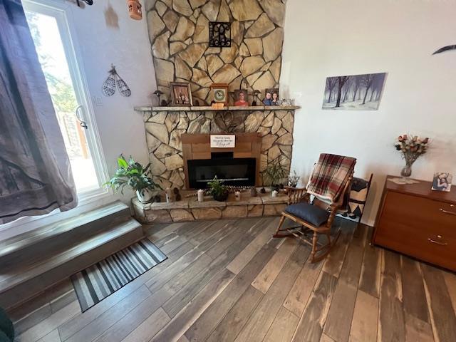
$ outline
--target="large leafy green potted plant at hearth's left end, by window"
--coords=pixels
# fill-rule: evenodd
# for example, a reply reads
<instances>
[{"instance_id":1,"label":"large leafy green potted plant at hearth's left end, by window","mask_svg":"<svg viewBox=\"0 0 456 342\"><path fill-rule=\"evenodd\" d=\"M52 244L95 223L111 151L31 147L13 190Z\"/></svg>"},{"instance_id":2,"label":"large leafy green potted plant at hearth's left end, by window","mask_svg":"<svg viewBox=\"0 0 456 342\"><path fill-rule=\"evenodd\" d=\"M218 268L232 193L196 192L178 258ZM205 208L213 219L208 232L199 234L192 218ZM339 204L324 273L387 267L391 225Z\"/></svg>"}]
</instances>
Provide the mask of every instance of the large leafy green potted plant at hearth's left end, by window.
<instances>
[{"instance_id":1,"label":"large leafy green potted plant at hearth's left end, by window","mask_svg":"<svg viewBox=\"0 0 456 342\"><path fill-rule=\"evenodd\" d=\"M117 163L118 169L115 170L113 177L105 182L106 187L110 187L116 192L120 190L123 194L123 189L127 185L136 192L136 196L142 203L150 202L152 191L156 188L162 190L162 187L150 177L150 163L143 167L132 157L128 161L125 160L123 155L118 157Z\"/></svg>"}]
</instances>

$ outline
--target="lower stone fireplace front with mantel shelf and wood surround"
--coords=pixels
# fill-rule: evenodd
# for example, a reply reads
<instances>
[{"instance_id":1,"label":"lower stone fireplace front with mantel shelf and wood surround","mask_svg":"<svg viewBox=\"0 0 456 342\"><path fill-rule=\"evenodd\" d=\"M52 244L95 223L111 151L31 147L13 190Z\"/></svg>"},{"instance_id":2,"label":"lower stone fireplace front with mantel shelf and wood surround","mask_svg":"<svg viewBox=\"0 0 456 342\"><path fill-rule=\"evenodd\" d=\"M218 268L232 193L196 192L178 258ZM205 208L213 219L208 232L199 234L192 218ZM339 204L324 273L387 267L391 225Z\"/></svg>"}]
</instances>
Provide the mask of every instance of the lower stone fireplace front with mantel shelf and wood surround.
<instances>
[{"instance_id":1,"label":"lower stone fireplace front with mantel shelf and wood surround","mask_svg":"<svg viewBox=\"0 0 456 342\"><path fill-rule=\"evenodd\" d=\"M261 172L272 160L279 160L288 172L293 145L294 111L297 108L228 107L225 110L212 110L210 107L143 106L135 110L144 115L152 175L164 188L190 189L192 187L186 170L189 155L192 156L191 160L209 160L211 152L233 152L233 157L256 158L257 186L262 185ZM223 151L208 148L211 133L234 133L237 135L237 148ZM197 144L196 150L184 154L183 148L189 148L189 139L192 140L189 137L192 136L199 137L204 142ZM252 143L253 140L245 141L242 137L247 140L257 138ZM229 159L227 155L226 159Z\"/></svg>"}]
</instances>

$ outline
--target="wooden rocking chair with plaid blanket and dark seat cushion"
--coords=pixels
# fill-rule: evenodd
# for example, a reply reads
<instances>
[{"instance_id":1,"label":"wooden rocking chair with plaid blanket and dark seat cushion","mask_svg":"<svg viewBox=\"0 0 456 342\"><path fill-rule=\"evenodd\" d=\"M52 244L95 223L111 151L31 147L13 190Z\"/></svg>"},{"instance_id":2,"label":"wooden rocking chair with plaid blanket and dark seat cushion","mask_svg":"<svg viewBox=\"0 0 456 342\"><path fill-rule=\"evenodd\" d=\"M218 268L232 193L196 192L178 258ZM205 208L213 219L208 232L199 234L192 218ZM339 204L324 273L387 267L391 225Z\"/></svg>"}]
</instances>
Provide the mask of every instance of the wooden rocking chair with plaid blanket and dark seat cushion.
<instances>
[{"instance_id":1,"label":"wooden rocking chair with plaid blanket and dark seat cushion","mask_svg":"<svg viewBox=\"0 0 456 342\"><path fill-rule=\"evenodd\" d=\"M281 213L273 237L301 239L312 247L312 263L324 259L341 235L338 229L331 238L331 226L338 211L348 202L355 164L355 158L321 154L306 188L286 187L288 206ZM282 228L286 218L299 226ZM318 241L320 235L326 235L326 244Z\"/></svg>"}]
</instances>

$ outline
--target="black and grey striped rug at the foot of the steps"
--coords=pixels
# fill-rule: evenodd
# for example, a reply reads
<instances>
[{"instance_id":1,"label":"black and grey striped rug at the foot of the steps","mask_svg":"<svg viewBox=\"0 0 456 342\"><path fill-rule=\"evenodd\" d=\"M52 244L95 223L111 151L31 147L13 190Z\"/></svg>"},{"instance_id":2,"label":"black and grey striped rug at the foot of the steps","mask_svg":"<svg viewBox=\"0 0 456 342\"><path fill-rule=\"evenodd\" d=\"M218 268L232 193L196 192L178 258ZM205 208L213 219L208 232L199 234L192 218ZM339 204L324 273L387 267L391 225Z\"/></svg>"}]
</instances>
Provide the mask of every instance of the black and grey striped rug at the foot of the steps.
<instances>
[{"instance_id":1,"label":"black and grey striped rug at the foot of the steps","mask_svg":"<svg viewBox=\"0 0 456 342\"><path fill-rule=\"evenodd\" d=\"M149 239L142 239L73 274L71 281L82 311L90 309L165 259L165 254L155 244Z\"/></svg>"}]
</instances>

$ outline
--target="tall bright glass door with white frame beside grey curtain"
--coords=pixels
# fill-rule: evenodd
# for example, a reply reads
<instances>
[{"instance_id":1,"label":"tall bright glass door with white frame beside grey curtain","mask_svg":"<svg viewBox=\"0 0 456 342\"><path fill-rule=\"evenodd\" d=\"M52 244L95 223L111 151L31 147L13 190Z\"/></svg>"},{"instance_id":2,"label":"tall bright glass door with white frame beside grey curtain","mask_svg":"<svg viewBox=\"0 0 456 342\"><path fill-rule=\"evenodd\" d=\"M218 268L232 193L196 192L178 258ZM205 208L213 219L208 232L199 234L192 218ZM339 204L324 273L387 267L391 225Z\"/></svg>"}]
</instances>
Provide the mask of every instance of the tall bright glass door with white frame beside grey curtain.
<instances>
[{"instance_id":1,"label":"tall bright glass door with white frame beside grey curtain","mask_svg":"<svg viewBox=\"0 0 456 342\"><path fill-rule=\"evenodd\" d=\"M66 6L23 1L28 26L71 161L78 197L103 192L105 166L81 64L70 34ZM58 6L58 7L56 7Z\"/></svg>"}]
</instances>

